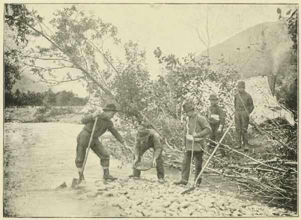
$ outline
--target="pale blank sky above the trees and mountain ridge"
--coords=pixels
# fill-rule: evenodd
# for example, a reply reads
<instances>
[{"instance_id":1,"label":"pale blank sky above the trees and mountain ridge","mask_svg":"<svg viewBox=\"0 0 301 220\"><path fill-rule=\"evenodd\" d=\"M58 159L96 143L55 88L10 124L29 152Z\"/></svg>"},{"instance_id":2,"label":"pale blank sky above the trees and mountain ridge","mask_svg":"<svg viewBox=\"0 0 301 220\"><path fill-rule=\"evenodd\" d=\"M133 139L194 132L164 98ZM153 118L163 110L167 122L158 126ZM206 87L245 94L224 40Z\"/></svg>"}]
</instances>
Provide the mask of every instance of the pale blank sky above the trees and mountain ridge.
<instances>
[{"instance_id":1,"label":"pale blank sky above the trees and mountain ridge","mask_svg":"<svg viewBox=\"0 0 301 220\"><path fill-rule=\"evenodd\" d=\"M56 10L70 6L28 5L29 9L37 10L44 17L46 24L53 18ZM293 8L291 5L208 4L80 4L77 7L86 15L93 14L103 22L117 27L121 44L114 47L105 45L114 56L123 56L125 42L138 41L139 47L146 51L147 68L152 79L156 79L163 68L153 53L157 47L160 47L165 54L175 54L179 58L189 53L198 55L206 50L193 27L198 27L205 34L202 39L206 39L207 15L210 46L214 46L257 24L277 21L277 8L282 10L282 14ZM32 42L32 44L36 43L40 42ZM72 90L81 97L87 95L81 84L65 83L60 87Z\"/></svg>"}]
</instances>

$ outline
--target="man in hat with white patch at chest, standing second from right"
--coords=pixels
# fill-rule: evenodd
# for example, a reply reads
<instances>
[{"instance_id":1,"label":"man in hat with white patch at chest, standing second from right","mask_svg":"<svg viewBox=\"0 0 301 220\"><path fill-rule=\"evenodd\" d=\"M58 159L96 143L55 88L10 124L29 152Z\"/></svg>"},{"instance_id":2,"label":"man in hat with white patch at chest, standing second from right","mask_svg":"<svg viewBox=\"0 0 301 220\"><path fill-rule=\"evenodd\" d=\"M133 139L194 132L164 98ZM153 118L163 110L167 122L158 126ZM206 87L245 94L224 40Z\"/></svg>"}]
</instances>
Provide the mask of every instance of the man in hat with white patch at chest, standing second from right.
<instances>
[{"instance_id":1,"label":"man in hat with white patch at chest, standing second from right","mask_svg":"<svg viewBox=\"0 0 301 220\"><path fill-rule=\"evenodd\" d=\"M217 104L217 96L215 94L211 94L209 97L210 107L206 112L206 119L208 120L212 133L210 139L218 142L223 136L223 128L225 125L225 112L223 109ZM215 144L211 144L215 146ZM210 153L213 151L213 148L210 148ZM220 148L221 154L223 157L226 156L225 150Z\"/></svg>"}]
</instances>

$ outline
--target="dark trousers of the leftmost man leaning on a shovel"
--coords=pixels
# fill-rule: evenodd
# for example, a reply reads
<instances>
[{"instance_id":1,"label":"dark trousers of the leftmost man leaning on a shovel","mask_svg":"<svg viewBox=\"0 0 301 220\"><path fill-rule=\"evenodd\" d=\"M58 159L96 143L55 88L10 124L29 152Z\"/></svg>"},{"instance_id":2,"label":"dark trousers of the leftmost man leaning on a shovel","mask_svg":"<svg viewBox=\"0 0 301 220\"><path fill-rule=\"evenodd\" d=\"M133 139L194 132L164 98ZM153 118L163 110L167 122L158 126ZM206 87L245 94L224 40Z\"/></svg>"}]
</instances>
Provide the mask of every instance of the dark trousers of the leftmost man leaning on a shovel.
<instances>
[{"instance_id":1,"label":"dark trousers of the leftmost man leaning on a shovel","mask_svg":"<svg viewBox=\"0 0 301 220\"><path fill-rule=\"evenodd\" d=\"M91 137L90 133L88 133L85 130L82 130L76 138L77 140L76 158L75 158L76 167L83 166L85 155L86 155L86 149L88 147L90 137ZM104 148L102 143L98 140L98 138L93 138L91 142L91 149L100 158L100 165L103 168L108 168L110 164L110 155L109 152Z\"/></svg>"}]
</instances>

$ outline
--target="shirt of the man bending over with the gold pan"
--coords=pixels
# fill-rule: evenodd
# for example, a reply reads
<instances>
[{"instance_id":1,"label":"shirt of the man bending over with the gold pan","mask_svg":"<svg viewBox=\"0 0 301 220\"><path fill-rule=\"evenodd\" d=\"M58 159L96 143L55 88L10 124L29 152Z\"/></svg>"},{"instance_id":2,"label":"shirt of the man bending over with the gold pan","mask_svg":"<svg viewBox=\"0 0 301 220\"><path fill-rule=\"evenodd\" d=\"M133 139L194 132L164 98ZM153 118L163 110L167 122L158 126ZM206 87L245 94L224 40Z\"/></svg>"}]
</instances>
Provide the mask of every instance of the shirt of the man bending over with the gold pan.
<instances>
[{"instance_id":1,"label":"shirt of the man bending over with the gold pan","mask_svg":"<svg viewBox=\"0 0 301 220\"><path fill-rule=\"evenodd\" d=\"M147 149L153 148L154 158L157 159L162 154L163 151L163 148L160 143L160 136L155 130L153 129L148 129L148 130L150 134L145 142L144 141L142 142L141 139L137 139L138 134L136 135L134 154L140 156L141 151L145 152Z\"/></svg>"}]
</instances>

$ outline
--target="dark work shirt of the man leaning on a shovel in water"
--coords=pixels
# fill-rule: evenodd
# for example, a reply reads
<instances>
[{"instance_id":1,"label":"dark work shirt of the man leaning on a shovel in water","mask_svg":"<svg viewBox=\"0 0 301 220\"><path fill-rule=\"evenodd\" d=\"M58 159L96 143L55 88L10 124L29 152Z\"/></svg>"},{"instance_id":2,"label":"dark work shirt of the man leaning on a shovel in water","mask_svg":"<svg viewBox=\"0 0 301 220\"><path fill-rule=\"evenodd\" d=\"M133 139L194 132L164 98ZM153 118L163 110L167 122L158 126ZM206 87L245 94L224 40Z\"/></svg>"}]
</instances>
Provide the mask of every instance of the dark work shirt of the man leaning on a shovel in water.
<instances>
[{"instance_id":1,"label":"dark work shirt of the man leaning on a shovel in water","mask_svg":"<svg viewBox=\"0 0 301 220\"><path fill-rule=\"evenodd\" d=\"M82 124L85 124L84 130L88 133L92 133L95 118L92 117L92 114L88 114L84 116L81 120ZM121 134L115 129L113 122L110 119L107 119L104 117L104 113L101 113L98 116L98 120L96 123L95 131L93 134L93 138L98 138L101 136L104 132L109 130L112 135L120 142L124 142L124 138L121 136Z\"/></svg>"}]
</instances>

